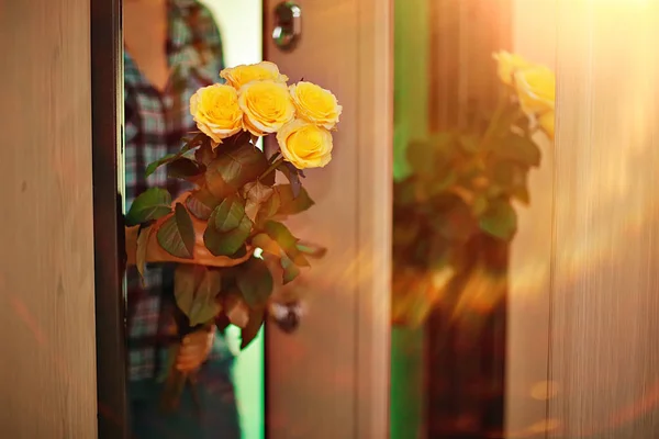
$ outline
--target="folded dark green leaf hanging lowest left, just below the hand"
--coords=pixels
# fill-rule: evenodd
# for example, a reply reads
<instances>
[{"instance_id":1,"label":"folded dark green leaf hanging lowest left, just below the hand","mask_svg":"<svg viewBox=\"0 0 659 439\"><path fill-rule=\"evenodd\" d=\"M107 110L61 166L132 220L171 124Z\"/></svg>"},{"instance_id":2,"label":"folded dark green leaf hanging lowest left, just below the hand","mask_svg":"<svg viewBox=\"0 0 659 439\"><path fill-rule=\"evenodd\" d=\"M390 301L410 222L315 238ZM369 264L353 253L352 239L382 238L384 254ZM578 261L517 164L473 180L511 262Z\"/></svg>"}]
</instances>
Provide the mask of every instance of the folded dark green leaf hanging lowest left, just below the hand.
<instances>
[{"instance_id":1,"label":"folded dark green leaf hanging lowest left, just below the hand","mask_svg":"<svg viewBox=\"0 0 659 439\"><path fill-rule=\"evenodd\" d=\"M216 302L221 274L203 266L180 263L174 277L177 306L188 316L190 326L212 322L221 308Z\"/></svg>"}]
</instances>

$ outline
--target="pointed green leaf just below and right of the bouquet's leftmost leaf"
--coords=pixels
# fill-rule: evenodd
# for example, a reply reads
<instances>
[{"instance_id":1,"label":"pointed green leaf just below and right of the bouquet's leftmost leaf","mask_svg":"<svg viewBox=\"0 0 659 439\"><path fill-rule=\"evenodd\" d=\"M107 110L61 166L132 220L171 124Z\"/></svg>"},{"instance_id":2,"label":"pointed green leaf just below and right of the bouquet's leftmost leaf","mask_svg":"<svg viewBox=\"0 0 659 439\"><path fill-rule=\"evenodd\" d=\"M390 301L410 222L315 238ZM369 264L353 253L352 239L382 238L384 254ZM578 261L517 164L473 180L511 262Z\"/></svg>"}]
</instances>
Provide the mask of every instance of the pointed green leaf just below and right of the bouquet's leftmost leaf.
<instances>
[{"instance_id":1,"label":"pointed green leaf just below and right of the bouquet's leftmost leaf","mask_svg":"<svg viewBox=\"0 0 659 439\"><path fill-rule=\"evenodd\" d=\"M190 214L181 203L176 204L174 215L165 221L156 237L160 247L169 255L193 259L194 227Z\"/></svg>"}]
</instances>

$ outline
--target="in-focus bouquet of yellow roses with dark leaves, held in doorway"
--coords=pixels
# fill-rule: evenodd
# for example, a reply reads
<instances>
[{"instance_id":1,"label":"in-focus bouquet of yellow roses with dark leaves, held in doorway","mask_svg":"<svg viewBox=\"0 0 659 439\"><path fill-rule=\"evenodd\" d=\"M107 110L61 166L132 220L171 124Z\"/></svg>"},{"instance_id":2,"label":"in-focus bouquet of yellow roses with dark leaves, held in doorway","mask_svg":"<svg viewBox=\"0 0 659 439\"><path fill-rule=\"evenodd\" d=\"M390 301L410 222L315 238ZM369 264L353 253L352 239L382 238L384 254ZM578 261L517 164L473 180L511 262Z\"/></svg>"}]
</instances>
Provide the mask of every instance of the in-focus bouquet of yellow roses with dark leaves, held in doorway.
<instances>
[{"instance_id":1,"label":"in-focus bouquet of yellow roses with dark leaves, held in doorway","mask_svg":"<svg viewBox=\"0 0 659 439\"><path fill-rule=\"evenodd\" d=\"M179 336L219 316L242 328L244 348L257 335L278 263L292 281L316 248L302 245L283 224L310 209L303 169L332 159L332 130L342 112L334 94L314 83L288 86L272 63L223 70L226 83L201 88L190 111L199 132L147 168L166 166L169 178L194 189L172 201L164 189L139 194L126 214L129 263L144 274L147 262L177 262L174 293ZM276 135L266 154L259 137ZM276 172L287 183L276 181ZM267 263L268 262L268 263ZM174 347L172 358L178 347ZM175 408L194 376L169 368L164 405Z\"/></svg>"}]
</instances>

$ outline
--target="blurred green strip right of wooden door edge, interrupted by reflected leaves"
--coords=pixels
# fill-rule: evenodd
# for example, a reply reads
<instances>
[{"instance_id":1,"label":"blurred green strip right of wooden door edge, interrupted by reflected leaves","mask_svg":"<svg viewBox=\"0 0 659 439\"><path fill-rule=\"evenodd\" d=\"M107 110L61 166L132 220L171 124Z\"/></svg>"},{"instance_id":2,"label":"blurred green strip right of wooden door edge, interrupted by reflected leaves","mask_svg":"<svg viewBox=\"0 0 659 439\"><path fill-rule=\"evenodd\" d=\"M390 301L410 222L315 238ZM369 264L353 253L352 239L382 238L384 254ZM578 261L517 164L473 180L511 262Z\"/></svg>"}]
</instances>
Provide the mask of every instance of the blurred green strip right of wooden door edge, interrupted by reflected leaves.
<instances>
[{"instance_id":1,"label":"blurred green strip right of wooden door edge, interrupted by reflected leaves","mask_svg":"<svg viewBox=\"0 0 659 439\"><path fill-rule=\"evenodd\" d=\"M394 179L409 172L405 145L427 136L428 1L394 0ZM423 345L423 328L392 328L391 439L422 437Z\"/></svg>"}]
</instances>

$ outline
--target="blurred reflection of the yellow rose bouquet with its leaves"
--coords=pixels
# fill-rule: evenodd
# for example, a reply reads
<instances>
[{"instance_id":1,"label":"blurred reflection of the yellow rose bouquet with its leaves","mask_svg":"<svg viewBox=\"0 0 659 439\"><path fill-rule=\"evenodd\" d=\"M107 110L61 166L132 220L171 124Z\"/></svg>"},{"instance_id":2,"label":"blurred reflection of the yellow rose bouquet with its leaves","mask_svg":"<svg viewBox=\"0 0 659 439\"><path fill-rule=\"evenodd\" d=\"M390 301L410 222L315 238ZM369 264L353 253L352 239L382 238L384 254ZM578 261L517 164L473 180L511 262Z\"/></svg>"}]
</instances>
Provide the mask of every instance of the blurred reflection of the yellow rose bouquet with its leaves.
<instances>
[{"instance_id":1,"label":"blurred reflection of the yellow rose bouquet with its leaves","mask_svg":"<svg viewBox=\"0 0 659 439\"><path fill-rule=\"evenodd\" d=\"M506 290L513 201L529 203L540 165L536 132L554 139L554 72L494 54L501 91L491 115L411 142L407 176L394 182L394 324L420 325L438 304L456 317L487 314Z\"/></svg>"}]
</instances>

